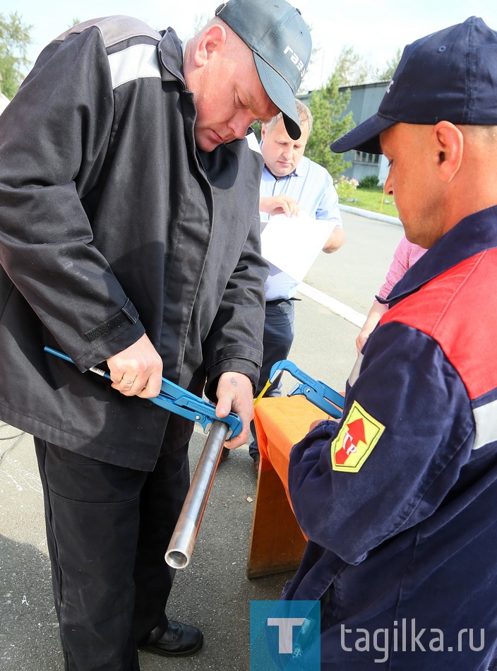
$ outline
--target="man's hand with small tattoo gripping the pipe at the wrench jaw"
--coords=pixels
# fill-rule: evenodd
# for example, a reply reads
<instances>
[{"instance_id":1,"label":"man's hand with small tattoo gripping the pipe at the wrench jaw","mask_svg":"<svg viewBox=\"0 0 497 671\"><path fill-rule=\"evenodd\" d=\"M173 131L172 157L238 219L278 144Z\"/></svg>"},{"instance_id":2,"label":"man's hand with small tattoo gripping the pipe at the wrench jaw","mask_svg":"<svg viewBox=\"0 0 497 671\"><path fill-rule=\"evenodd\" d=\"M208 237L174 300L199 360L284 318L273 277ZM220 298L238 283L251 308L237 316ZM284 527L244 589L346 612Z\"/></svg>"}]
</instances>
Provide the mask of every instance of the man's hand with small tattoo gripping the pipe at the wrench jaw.
<instances>
[{"instance_id":1,"label":"man's hand with small tattoo gripping the pipe at the wrench jaw","mask_svg":"<svg viewBox=\"0 0 497 671\"><path fill-rule=\"evenodd\" d=\"M234 449L248 440L253 417L252 383L243 373L223 373L217 383L216 415L220 418L227 417L229 412L236 412L243 424L238 436L226 441L226 447Z\"/></svg>"}]
</instances>

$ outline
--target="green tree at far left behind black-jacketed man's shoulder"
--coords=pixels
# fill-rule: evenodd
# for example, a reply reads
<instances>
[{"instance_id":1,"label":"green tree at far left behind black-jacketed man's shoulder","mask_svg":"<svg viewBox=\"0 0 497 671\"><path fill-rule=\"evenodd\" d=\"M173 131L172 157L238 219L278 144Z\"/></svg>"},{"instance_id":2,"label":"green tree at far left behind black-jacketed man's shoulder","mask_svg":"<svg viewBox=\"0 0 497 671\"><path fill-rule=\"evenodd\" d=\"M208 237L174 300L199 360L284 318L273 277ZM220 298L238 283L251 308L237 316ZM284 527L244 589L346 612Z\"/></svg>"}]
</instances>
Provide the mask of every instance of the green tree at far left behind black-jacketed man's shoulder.
<instances>
[{"instance_id":1,"label":"green tree at far left behind black-jacketed man's shoulder","mask_svg":"<svg viewBox=\"0 0 497 671\"><path fill-rule=\"evenodd\" d=\"M12 99L23 81L23 69L28 68L28 45L32 25L25 25L17 12L8 16L0 13L0 74L1 91Z\"/></svg>"}]
</instances>

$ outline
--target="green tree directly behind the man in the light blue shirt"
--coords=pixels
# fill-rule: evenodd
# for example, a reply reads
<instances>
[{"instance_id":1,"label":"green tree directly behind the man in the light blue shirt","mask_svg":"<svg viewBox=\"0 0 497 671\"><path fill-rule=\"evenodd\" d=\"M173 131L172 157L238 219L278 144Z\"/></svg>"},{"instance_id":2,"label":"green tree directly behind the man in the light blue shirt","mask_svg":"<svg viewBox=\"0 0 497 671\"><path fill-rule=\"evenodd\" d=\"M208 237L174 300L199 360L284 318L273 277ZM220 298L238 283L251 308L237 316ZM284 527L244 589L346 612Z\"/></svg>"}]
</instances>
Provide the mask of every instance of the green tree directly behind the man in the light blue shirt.
<instances>
[{"instance_id":1,"label":"green tree directly behind the man in the light blue shirt","mask_svg":"<svg viewBox=\"0 0 497 671\"><path fill-rule=\"evenodd\" d=\"M330 150L330 143L354 128L352 112L345 114L350 100L350 90L340 90L340 73L335 71L328 82L313 91L309 109L313 126L306 146L306 156L323 165L335 179L349 167L342 154Z\"/></svg>"}]
</instances>

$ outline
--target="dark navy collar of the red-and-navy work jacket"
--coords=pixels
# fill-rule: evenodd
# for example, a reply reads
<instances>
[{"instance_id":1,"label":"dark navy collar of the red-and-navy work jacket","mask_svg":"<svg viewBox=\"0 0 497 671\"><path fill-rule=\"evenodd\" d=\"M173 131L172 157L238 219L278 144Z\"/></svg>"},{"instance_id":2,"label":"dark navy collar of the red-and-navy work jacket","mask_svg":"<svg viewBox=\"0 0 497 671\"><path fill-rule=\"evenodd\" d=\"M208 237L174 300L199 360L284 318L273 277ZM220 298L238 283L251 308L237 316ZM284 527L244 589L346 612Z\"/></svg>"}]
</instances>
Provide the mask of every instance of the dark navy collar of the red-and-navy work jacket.
<instances>
[{"instance_id":1,"label":"dark navy collar of the red-and-navy work jacket","mask_svg":"<svg viewBox=\"0 0 497 671\"><path fill-rule=\"evenodd\" d=\"M497 247L497 206L462 219L407 270L388 297L376 299L393 307L457 263L493 247Z\"/></svg>"}]
</instances>

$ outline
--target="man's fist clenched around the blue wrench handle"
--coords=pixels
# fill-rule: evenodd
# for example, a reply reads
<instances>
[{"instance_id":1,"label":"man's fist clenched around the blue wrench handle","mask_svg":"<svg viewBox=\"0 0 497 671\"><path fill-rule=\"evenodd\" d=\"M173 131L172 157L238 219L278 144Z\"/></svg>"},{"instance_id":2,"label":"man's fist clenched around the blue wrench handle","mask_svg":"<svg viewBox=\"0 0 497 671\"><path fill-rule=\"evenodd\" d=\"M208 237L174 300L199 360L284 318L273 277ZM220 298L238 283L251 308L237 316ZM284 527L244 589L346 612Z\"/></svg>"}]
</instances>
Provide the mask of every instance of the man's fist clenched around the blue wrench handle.
<instances>
[{"instance_id":1,"label":"man's fist clenched around the blue wrench handle","mask_svg":"<svg viewBox=\"0 0 497 671\"><path fill-rule=\"evenodd\" d=\"M113 357L107 359L112 388L124 396L153 398L162 384L162 359L150 343L148 335L141 336Z\"/></svg>"}]
</instances>

